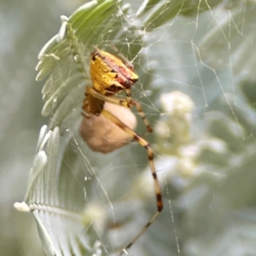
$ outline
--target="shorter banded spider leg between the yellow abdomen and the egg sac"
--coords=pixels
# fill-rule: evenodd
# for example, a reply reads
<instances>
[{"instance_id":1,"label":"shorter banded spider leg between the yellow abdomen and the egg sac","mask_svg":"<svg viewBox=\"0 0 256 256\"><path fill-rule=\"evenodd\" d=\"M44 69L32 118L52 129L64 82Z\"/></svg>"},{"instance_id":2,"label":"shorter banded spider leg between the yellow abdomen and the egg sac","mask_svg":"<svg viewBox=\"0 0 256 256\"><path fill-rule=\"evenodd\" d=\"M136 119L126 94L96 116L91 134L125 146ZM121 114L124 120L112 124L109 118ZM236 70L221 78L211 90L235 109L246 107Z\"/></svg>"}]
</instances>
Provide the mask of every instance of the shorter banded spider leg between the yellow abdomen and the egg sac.
<instances>
[{"instance_id":1,"label":"shorter banded spider leg between the yellow abdomen and the egg sac","mask_svg":"<svg viewBox=\"0 0 256 256\"><path fill-rule=\"evenodd\" d=\"M104 96L101 93L99 93L96 90L94 90L92 87L87 89L87 93L90 93L90 95L95 96L96 98L98 98L99 100L102 100L103 102L109 102L109 103L112 103L114 105L119 105L119 106L122 106L122 107L125 107L125 108L131 108L133 106L136 107L137 108L137 112L139 113L139 115L143 119L144 125L147 128L147 131L148 132L152 132L153 131L151 125L148 122L148 119L147 119L145 113L143 112L142 104L140 102L132 100L131 96L130 96L131 102L128 102L129 101L129 99L128 99L129 92L126 91L127 99ZM130 92L130 95L131 95L131 92Z\"/></svg>"}]
</instances>

